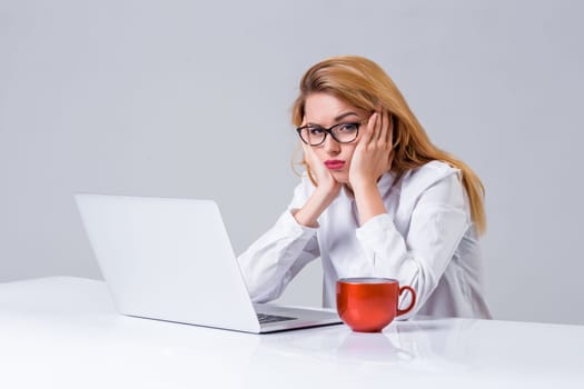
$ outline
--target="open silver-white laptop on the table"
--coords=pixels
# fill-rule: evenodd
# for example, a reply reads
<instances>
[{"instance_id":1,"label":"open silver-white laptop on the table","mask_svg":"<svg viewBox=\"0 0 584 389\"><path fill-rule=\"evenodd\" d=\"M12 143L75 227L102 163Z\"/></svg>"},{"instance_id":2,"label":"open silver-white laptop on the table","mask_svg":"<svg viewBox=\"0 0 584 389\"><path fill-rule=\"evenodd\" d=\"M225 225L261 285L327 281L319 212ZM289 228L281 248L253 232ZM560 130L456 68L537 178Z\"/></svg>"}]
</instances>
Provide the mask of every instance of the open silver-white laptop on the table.
<instances>
[{"instance_id":1,"label":"open silver-white laptop on the table","mask_svg":"<svg viewBox=\"0 0 584 389\"><path fill-rule=\"evenodd\" d=\"M212 200L75 199L122 315L253 333L342 322L334 311L253 303Z\"/></svg>"}]
</instances>

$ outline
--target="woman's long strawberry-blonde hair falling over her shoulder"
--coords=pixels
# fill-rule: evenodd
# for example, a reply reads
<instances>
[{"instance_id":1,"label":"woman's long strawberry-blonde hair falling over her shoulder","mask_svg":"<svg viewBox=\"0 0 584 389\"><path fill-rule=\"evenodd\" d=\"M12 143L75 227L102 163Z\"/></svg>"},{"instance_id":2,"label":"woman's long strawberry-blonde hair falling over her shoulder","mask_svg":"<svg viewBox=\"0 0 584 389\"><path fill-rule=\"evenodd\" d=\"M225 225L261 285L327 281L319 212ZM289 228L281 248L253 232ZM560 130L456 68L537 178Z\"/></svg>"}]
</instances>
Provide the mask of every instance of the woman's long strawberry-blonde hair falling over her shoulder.
<instances>
[{"instance_id":1,"label":"woman's long strawberry-blonde hair falling over her shoulder","mask_svg":"<svg viewBox=\"0 0 584 389\"><path fill-rule=\"evenodd\" d=\"M372 113L382 108L392 114L394 159L390 171L398 178L433 160L459 169L475 230L479 235L485 232L485 188L481 179L466 163L432 143L395 83L377 63L363 57L344 56L326 59L308 69L300 80L300 93L293 106L291 120L296 127L303 122L306 98L314 92L335 96ZM306 166L304 160L303 163ZM306 169L311 177L308 166Z\"/></svg>"}]
</instances>

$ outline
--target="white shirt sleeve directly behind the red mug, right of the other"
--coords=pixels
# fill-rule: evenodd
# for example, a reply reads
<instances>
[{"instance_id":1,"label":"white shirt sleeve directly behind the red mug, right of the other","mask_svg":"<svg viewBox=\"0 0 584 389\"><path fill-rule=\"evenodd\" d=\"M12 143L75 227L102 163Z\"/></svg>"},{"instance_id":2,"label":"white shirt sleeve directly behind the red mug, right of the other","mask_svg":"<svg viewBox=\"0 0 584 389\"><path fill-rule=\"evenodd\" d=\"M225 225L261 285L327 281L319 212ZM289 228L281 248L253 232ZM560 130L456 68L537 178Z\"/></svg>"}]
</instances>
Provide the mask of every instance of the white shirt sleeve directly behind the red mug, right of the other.
<instances>
[{"instance_id":1,"label":"white shirt sleeve directly behind the red mug, right of the other","mask_svg":"<svg viewBox=\"0 0 584 389\"><path fill-rule=\"evenodd\" d=\"M360 258L375 277L388 277L416 291L415 315L432 295L452 260L458 243L471 228L466 194L454 172L426 189L412 211L409 229L403 236L387 213L357 229L357 239L372 256ZM405 306L409 298L405 299Z\"/></svg>"}]
</instances>

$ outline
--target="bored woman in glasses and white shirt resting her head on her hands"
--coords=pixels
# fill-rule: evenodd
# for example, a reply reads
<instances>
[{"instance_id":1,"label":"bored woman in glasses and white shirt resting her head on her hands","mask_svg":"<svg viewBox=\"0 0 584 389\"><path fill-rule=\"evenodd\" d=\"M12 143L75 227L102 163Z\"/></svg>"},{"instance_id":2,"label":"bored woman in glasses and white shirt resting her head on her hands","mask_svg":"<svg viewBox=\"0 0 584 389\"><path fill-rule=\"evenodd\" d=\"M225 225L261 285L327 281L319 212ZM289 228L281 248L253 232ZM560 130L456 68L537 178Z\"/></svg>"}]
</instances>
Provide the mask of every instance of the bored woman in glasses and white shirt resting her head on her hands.
<instances>
[{"instance_id":1,"label":"bored woman in glasses and white shirt resting her head on her hands","mask_svg":"<svg viewBox=\"0 0 584 389\"><path fill-rule=\"evenodd\" d=\"M279 297L320 257L325 307L335 307L338 278L386 277L416 290L407 317L491 318L483 184L430 142L378 64L335 57L313 66L293 122L306 174L276 225L239 257L255 301Z\"/></svg>"}]
</instances>

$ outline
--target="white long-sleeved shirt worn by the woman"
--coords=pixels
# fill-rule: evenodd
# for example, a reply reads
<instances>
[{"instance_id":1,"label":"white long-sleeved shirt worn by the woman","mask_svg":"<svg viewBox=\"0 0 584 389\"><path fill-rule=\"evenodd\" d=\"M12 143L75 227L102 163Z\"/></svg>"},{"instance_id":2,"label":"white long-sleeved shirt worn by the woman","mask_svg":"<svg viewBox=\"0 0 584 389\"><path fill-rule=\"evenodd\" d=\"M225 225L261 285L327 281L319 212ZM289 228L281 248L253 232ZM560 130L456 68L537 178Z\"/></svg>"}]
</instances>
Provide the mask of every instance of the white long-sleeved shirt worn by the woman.
<instances>
[{"instance_id":1,"label":"white long-sleeved shirt worn by the woman","mask_svg":"<svg viewBox=\"0 0 584 389\"><path fill-rule=\"evenodd\" d=\"M416 307L402 318L491 318L481 246L459 170L432 161L394 181L387 172L377 183L387 213L359 226L355 199L342 190L320 215L319 227L308 228L293 216L315 189L303 177L288 210L238 258L251 299L276 299L306 263L320 257L324 307L335 307L339 278L385 277L416 291Z\"/></svg>"}]
</instances>

